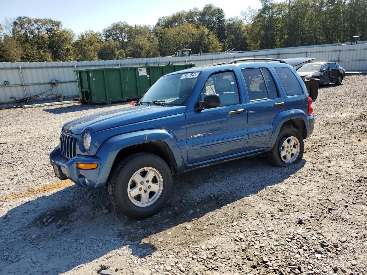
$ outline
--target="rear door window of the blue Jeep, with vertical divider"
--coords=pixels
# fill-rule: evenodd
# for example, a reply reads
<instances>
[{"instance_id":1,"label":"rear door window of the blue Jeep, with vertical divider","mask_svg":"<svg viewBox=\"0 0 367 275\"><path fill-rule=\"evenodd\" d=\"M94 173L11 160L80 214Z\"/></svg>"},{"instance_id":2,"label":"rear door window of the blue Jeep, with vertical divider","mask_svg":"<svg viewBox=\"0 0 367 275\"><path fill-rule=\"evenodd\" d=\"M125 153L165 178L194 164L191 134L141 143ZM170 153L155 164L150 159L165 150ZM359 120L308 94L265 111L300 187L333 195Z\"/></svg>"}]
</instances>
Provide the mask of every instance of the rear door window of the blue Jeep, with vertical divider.
<instances>
[{"instance_id":1,"label":"rear door window of the blue Jeep, with vertical divider","mask_svg":"<svg viewBox=\"0 0 367 275\"><path fill-rule=\"evenodd\" d=\"M279 97L273 77L268 69L242 69L242 76L245 80L250 101Z\"/></svg>"}]
</instances>

